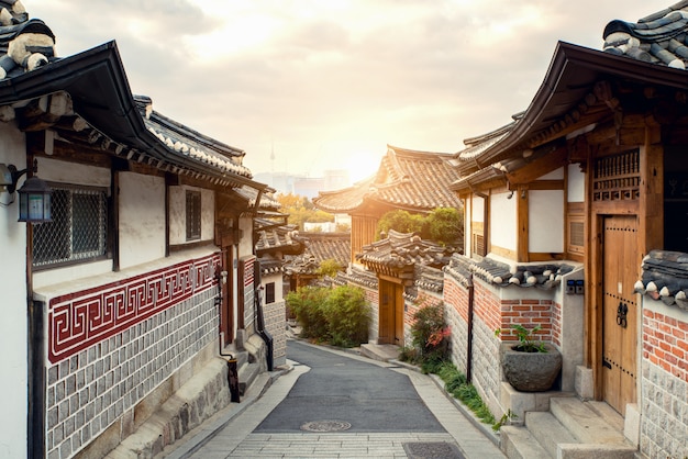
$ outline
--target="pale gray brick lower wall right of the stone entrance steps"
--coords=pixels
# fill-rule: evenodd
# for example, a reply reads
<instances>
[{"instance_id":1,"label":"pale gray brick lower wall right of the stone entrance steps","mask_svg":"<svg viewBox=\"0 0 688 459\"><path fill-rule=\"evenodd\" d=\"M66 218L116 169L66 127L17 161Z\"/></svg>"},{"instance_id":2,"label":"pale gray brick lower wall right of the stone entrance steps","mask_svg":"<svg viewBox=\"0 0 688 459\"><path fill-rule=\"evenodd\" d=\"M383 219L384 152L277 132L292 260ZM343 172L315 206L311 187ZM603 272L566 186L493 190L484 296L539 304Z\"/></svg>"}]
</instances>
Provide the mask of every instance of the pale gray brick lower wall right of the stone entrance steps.
<instances>
[{"instance_id":1,"label":"pale gray brick lower wall right of the stone entrance steps","mask_svg":"<svg viewBox=\"0 0 688 459\"><path fill-rule=\"evenodd\" d=\"M641 451L651 458L688 457L688 382L643 359Z\"/></svg>"}]
</instances>

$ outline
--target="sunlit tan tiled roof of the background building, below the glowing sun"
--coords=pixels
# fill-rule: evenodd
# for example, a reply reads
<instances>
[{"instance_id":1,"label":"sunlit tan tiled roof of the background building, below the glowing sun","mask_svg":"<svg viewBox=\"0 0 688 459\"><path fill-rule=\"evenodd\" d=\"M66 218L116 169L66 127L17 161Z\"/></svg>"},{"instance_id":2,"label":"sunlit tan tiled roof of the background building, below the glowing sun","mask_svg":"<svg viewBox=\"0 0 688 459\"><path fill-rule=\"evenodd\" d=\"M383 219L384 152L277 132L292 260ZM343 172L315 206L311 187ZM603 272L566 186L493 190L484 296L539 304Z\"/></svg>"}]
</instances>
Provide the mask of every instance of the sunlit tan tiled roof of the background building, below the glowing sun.
<instances>
[{"instance_id":1,"label":"sunlit tan tiled roof of the background building, below the glowing sun","mask_svg":"<svg viewBox=\"0 0 688 459\"><path fill-rule=\"evenodd\" d=\"M321 192L313 200L324 211L346 213L366 202L412 212L462 204L448 186L458 178L451 166L454 155L387 147L377 173L354 187Z\"/></svg>"}]
</instances>

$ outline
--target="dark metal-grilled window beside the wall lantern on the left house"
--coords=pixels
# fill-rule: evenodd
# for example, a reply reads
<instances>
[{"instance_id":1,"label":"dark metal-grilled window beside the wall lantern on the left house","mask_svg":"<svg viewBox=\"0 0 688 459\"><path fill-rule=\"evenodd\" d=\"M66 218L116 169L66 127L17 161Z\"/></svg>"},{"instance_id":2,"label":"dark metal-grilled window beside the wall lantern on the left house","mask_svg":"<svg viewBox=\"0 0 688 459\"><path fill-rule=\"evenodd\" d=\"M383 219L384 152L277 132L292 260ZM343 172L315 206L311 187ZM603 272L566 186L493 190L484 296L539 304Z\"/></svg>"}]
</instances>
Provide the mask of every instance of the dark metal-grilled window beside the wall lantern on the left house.
<instances>
[{"instance_id":1,"label":"dark metal-grilled window beside the wall lantern on the left house","mask_svg":"<svg viewBox=\"0 0 688 459\"><path fill-rule=\"evenodd\" d=\"M33 266L88 261L108 254L108 194L51 183L53 221L34 225Z\"/></svg>"}]
</instances>

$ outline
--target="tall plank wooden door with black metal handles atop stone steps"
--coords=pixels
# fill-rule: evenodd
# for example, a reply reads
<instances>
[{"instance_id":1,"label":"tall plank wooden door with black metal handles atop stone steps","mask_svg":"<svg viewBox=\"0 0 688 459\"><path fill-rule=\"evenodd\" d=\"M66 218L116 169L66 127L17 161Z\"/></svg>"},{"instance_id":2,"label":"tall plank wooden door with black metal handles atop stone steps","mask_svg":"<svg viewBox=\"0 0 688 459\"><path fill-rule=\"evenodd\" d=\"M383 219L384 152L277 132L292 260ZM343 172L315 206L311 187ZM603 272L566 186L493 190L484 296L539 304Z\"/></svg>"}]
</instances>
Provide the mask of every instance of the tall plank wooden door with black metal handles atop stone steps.
<instances>
[{"instance_id":1,"label":"tall plank wooden door with black metal handles atop stone steps","mask_svg":"<svg viewBox=\"0 0 688 459\"><path fill-rule=\"evenodd\" d=\"M637 320L633 286L639 279L637 222L634 215L608 216L602 239L602 384L609 405L625 415L636 400Z\"/></svg>"}]
</instances>

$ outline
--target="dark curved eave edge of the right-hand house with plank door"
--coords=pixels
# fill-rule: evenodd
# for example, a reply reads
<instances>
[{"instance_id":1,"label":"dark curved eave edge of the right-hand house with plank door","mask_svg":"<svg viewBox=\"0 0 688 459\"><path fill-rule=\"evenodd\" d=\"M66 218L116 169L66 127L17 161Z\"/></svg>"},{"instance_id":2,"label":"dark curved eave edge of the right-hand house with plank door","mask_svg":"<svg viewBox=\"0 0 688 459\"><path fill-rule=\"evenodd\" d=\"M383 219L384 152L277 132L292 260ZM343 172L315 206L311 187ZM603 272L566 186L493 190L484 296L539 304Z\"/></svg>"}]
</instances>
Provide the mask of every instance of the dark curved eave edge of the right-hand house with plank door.
<instances>
[{"instance_id":1,"label":"dark curved eave edge of the right-hand house with plank door","mask_svg":"<svg viewBox=\"0 0 688 459\"><path fill-rule=\"evenodd\" d=\"M688 89L685 70L558 42L545 78L523 117L510 133L474 159L477 166L481 168L500 160L511 149L543 132L554 117L575 107L603 76ZM575 97L577 92L580 97Z\"/></svg>"}]
</instances>

